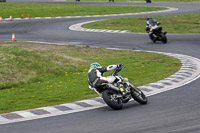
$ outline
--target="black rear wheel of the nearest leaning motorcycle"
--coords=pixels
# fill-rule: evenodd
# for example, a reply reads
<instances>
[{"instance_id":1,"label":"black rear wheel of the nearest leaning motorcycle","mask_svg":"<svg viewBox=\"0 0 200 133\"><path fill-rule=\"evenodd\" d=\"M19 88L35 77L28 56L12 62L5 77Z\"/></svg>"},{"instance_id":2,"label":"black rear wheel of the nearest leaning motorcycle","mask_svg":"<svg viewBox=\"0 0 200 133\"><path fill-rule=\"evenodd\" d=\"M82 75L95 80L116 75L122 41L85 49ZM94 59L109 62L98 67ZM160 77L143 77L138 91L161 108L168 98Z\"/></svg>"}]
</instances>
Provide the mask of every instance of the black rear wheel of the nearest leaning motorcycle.
<instances>
[{"instance_id":1,"label":"black rear wheel of the nearest leaning motorcycle","mask_svg":"<svg viewBox=\"0 0 200 133\"><path fill-rule=\"evenodd\" d=\"M102 93L103 100L105 103L115 110L120 110L123 107L122 100L120 98L117 98L117 92L114 90L105 90Z\"/></svg>"}]
</instances>

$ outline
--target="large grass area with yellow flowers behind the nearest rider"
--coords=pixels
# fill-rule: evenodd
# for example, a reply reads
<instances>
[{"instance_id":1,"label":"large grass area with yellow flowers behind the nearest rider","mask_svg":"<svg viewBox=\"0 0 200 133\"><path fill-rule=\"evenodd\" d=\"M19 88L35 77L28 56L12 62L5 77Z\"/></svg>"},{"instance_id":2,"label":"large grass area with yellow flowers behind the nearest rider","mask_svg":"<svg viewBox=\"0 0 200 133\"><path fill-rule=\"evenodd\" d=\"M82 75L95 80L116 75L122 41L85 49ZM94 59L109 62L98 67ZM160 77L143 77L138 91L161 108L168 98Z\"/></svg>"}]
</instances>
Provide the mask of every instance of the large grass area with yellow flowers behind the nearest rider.
<instances>
[{"instance_id":1,"label":"large grass area with yellow flowers behind the nearest rider","mask_svg":"<svg viewBox=\"0 0 200 133\"><path fill-rule=\"evenodd\" d=\"M0 42L0 113L97 97L87 79L90 63L96 61L103 66L123 63L120 73L138 86L181 67L178 59L149 52Z\"/></svg>"}]
</instances>

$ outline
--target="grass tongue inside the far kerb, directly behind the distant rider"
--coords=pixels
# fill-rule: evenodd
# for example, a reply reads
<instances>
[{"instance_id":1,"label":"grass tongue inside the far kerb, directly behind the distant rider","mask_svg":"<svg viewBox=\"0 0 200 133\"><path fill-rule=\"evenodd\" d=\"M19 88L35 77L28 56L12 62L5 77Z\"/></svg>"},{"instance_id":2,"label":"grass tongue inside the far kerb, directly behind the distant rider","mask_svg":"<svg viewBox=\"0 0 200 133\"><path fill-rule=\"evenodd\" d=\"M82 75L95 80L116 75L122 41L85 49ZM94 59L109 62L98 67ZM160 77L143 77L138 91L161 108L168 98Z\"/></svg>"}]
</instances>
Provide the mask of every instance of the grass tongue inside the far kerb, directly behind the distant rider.
<instances>
[{"instance_id":1,"label":"grass tongue inside the far kerb, directly behind the distant rider","mask_svg":"<svg viewBox=\"0 0 200 133\"><path fill-rule=\"evenodd\" d=\"M200 33L200 13L153 17L168 33ZM120 18L83 25L91 29L129 30L145 33L146 17Z\"/></svg>"}]
</instances>

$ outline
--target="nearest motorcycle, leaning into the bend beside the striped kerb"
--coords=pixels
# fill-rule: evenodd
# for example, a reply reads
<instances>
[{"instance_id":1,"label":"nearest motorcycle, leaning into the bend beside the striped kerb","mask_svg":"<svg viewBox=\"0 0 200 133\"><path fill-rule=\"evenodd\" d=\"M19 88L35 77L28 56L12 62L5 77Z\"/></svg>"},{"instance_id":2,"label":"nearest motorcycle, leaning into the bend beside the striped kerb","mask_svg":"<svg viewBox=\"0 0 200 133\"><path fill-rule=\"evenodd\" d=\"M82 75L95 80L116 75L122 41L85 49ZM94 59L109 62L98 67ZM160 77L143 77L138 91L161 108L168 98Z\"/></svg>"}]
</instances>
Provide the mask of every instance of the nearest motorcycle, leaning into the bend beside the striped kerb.
<instances>
[{"instance_id":1,"label":"nearest motorcycle, leaning into the bend beside the striped kerb","mask_svg":"<svg viewBox=\"0 0 200 133\"><path fill-rule=\"evenodd\" d=\"M118 72L124 68L124 65L109 76L109 80L113 81L112 84L104 83L100 89L95 91L103 98L105 103L115 110L120 110L123 108L123 104L127 103L132 98L140 104L147 104L148 99L145 94L137 87L132 85L128 78L123 78ZM118 79L117 83L114 81ZM120 84L120 85L119 85ZM118 86L122 87L124 92L120 90Z\"/></svg>"}]
</instances>

